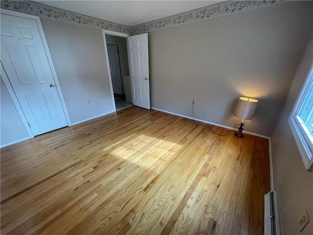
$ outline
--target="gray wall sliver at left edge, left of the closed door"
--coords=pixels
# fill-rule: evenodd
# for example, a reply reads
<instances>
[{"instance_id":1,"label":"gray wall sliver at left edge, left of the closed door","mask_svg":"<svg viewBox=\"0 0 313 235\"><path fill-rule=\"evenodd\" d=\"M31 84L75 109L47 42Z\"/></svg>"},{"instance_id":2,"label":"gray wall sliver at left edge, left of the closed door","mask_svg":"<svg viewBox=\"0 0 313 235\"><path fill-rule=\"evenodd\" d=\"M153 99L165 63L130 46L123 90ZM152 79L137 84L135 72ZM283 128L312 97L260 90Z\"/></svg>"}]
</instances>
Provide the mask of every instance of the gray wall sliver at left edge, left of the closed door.
<instances>
[{"instance_id":1,"label":"gray wall sliver at left edge, left of the closed door","mask_svg":"<svg viewBox=\"0 0 313 235\"><path fill-rule=\"evenodd\" d=\"M0 145L7 145L28 137L20 115L1 77L0 84Z\"/></svg>"}]
</instances>

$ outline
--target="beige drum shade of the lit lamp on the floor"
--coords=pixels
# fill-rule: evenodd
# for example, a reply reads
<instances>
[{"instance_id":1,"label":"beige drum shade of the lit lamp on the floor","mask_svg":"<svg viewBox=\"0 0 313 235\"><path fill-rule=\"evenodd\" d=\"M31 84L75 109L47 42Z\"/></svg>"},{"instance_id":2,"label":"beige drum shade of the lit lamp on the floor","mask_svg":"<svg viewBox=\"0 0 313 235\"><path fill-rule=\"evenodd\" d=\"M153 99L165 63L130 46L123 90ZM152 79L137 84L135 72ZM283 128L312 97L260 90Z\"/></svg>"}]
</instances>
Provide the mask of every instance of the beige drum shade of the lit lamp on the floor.
<instances>
[{"instance_id":1,"label":"beige drum shade of the lit lamp on the floor","mask_svg":"<svg viewBox=\"0 0 313 235\"><path fill-rule=\"evenodd\" d=\"M257 104L257 99L240 97L234 115L241 119L252 119Z\"/></svg>"}]
</instances>

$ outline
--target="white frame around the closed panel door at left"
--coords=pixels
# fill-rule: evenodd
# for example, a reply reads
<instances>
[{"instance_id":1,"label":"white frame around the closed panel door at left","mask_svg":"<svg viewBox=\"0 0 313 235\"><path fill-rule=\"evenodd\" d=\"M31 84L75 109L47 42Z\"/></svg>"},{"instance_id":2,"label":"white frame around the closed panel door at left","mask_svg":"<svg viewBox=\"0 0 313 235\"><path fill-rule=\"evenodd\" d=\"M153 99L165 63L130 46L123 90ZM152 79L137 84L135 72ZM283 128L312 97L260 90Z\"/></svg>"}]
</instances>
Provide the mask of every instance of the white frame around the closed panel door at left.
<instances>
[{"instance_id":1,"label":"white frame around the closed panel door at left","mask_svg":"<svg viewBox=\"0 0 313 235\"><path fill-rule=\"evenodd\" d=\"M49 66L50 66L52 77L53 77L53 80L54 80L54 83L55 83L55 87L56 87L58 95L60 97L62 109L63 109L63 112L65 114L65 118L67 120L67 125L71 126L72 124L70 122L70 118L69 118L69 115L68 115L68 112L67 112L67 106L65 104L65 100L64 100L64 97L63 97L63 94L62 94L62 91L61 91L61 87L60 87L60 83L59 83L59 80L58 80L58 77L57 77L57 73L56 73L54 65L53 65L53 61L52 61L52 57L51 57L51 54L50 54L50 51L49 51L49 47L48 47L47 41L45 39L44 28L43 28L43 26L41 24L40 17L39 16L33 16L33 15L25 14L25 13L21 13L21 12L17 12L17 11L6 10L6 9L1 9L1 14L21 17L21 18L26 18L26 19L30 19L30 20L35 20L36 21L37 27L38 27L38 30L39 30L39 33L40 33L40 37L42 39L43 46L44 46L44 49L45 49L45 54L46 54L46 57L47 57L47 60L48 60ZM11 96L11 99L13 101L14 106L16 107L16 109L18 111L18 114L20 115L20 118L22 119L22 123L24 124L24 127L26 129L26 132L27 132L29 138L33 138L34 134L31 131L30 127L28 126L27 119L26 119L26 117L25 117L25 115L24 115L24 113L22 111L22 107L21 107L21 105L20 105L20 103L19 103L19 101L17 99L16 94L14 93L13 87L12 87L8 77L7 77L7 74L6 74L6 72L5 72L5 70L4 70L3 66L2 66L2 63L1 63L1 77L3 79L3 82L4 82L5 86L6 86L6 89L8 90L8 93Z\"/></svg>"}]
</instances>

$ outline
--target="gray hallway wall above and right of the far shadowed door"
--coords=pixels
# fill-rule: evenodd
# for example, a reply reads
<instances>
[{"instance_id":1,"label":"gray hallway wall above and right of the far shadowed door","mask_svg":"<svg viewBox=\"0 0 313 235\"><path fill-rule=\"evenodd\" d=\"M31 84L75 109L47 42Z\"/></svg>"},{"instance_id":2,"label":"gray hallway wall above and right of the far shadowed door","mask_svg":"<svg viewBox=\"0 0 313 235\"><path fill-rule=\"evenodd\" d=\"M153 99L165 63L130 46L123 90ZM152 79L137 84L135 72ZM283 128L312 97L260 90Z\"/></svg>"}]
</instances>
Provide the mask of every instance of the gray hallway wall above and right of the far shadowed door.
<instances>
[{"instance_id":1,"label":"gray hallway wall above and right of the far shadowed door","mask_svg":"<svg viewBox=\"0 0 313 235\"><path fill-rule=\"evenodd\" d=\"M129 76L128 69L128 56L127 56L127 39L124 37L117 37L114 35L106 34L107 44L118 46L119 51L119 59L120 59L120 67L122 76Z\"/></svg>"}]
</instances>

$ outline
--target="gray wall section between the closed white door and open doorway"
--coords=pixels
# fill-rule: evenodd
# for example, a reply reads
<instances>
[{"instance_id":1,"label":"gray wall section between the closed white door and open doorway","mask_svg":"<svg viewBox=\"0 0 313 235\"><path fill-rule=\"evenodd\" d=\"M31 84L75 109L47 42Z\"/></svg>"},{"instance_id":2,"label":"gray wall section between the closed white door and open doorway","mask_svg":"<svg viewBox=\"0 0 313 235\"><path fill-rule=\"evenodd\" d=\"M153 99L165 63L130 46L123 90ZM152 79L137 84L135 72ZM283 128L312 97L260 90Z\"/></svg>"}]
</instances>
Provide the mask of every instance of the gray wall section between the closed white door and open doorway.
<instances>
[{"instance_id":1,"label":"gray wall section between the closed white door and open doorway","mask_svg":"<svg viewBox=\"0 0 313 235\"><path fill-rule=\"evenodd\" d=\"M44 19L41 22L71 122L112 112L102 31Z\"/></svg>"}]
</instances>

